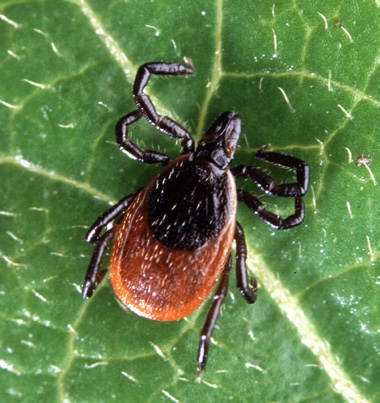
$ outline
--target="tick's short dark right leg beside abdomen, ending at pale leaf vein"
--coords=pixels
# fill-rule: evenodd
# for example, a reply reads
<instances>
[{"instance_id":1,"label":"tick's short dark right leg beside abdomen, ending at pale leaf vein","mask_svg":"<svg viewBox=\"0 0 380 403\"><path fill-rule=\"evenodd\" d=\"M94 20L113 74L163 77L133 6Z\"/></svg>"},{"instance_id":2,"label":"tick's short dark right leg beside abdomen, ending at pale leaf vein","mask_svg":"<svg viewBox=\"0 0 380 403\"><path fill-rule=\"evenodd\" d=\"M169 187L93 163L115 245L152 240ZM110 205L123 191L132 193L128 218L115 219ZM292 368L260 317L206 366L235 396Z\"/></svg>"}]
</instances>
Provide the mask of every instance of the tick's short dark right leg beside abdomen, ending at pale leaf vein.
<instances>
[{"instance_id":1,"label":"tick's short dark right leg beside abdomen, ending at pale leaf vein","mask_svg":"<svg viewBox=\"0 0 380 403\"><path fill-rule=\"evenodd\" d=\"M236 241L236 283L241 295L249 303L253 304L257 298L257 282L253 278L251 284L248 281L248 272L246 266L247 245L245 243L244 230L241 225L236 222L235 230Z\"/></svg>"}]
</instances>

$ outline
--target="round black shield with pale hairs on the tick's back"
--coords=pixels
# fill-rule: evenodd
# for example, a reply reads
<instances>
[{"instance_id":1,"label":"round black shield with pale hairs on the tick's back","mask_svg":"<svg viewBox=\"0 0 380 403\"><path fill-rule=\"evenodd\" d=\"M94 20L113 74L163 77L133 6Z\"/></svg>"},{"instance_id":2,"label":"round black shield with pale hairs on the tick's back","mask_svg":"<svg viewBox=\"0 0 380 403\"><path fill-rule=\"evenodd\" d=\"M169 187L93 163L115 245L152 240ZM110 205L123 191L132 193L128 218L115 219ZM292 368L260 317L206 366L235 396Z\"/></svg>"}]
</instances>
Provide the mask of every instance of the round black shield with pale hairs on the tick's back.
<instances>
[{"instance_id":1,"label":"round black shield with pale hairs on the tick's back","mask_svg":"<svg viewBox=\"0 0 380 403\"><path fill-rule=\"evenodd\" d=\"M230 197L226 172L204 160L181 160L154 183L150 227L169 248L195 250L223 228Z\"/></svg>"}]
</instances>

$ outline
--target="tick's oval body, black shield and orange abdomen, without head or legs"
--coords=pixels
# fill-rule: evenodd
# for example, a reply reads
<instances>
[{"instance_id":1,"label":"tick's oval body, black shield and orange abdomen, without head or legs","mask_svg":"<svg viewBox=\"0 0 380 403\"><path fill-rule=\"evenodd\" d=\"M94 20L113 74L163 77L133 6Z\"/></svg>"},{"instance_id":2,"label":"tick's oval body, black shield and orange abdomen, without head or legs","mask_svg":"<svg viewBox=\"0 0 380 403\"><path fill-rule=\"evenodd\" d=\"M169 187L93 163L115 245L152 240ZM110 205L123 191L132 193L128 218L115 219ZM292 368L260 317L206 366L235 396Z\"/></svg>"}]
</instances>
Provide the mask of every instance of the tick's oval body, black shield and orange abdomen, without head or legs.
<instances>
[{"instance_id":1,"label":"tick's oval body, black shield and orange abdomen, without head or legs","mask_svg":"<svg viewBox=\"0 0 380 403\"><path fill-rule=\"evenodd\" d=\"M197 309L230 255L236 204L229 171L191 154L168 164L120 224L110 265L120 300L137 314L161 321Z\"/></svg>"}]
</instances>

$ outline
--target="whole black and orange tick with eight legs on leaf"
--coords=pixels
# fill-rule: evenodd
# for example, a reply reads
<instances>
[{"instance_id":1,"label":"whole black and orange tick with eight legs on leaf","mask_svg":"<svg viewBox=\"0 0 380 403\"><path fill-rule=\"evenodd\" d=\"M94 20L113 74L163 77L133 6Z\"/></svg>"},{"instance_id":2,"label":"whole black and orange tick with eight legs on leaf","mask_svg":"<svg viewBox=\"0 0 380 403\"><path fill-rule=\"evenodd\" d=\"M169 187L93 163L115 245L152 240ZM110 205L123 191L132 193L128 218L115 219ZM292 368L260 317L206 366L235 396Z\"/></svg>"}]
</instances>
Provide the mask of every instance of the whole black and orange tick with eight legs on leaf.
<instances>
[{"instance_id":1,"label":"whole black and orange tick with eight legs on leaf","mask_svg":"<svg viewBox=\"0 0 380 403\"><path fill-rule=\"evenodd\" d=\"M266 151L255 157L295 171L295 183L277 184L258 168L239 165L229 168L241 132L241 118L233 112L221 114L206 131L197 147L189 132L174 120L157 113L144 92L150 76L194 73L185 64L147 63L137 72L133 97L137 109L116 125L116 141L130 158L161 164L162 170L144 188L124 197L102 214L89 229L86 240L95 250L85 277L83 297L90 298L106 273L103 255L115 238L110 261L112 286L131 311L158 321L184 318L199 308L219 286L201 331L198 371L204 370L210 339L228 290L232 266L231 247L236 243L237 287L253 304L257 283L248 280L244 231L236 221L238 202L244 202L258 218L276 229L288 229L304 220L302 196L309 184L310 170L298 158ZM182 154L144 150L128 139L129 126L144 117L156 129L182 140ZM294 213L282 218L265 209L250 193L237 189L238 178L250 178L265 194L294 197ZM120 220L116 220L121 217ZM109 229L109 224L116 222Z\"/></svg>"}]
</instances>

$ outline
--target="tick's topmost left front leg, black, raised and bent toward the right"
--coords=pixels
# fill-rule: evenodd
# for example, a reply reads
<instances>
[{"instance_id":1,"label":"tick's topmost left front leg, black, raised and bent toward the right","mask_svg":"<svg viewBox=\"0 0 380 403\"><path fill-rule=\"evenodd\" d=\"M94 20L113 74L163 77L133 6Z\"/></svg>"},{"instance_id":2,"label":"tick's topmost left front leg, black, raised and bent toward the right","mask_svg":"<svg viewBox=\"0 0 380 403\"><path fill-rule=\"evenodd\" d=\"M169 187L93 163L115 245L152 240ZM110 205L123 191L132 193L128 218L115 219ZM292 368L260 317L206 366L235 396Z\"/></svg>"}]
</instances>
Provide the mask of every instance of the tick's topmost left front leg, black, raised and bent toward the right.
<instances>
[{"instance_id":1,"label":"tick's topmost left front leg, black, raised and bent toward the right","mask_svg":"<svg viewBox=\"0 0 380 403\"><path fill-rule=\"evenodd\" d=\"M133 96L136 105L149 123L168 136L183 139L183 152L187 154L194 151L194 140L190 137L189 132L169 117L159 115L149 96L143 92L151 74L173 76L193 74L194 67L192 61L185 59L185 62L188 66L177 63L147 63L142 65L136 75Z\"/></svg>"}]
</instances>

